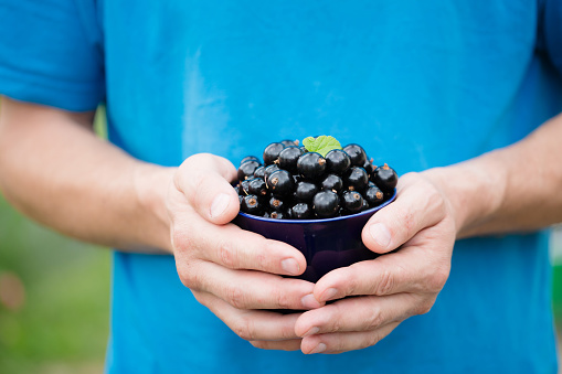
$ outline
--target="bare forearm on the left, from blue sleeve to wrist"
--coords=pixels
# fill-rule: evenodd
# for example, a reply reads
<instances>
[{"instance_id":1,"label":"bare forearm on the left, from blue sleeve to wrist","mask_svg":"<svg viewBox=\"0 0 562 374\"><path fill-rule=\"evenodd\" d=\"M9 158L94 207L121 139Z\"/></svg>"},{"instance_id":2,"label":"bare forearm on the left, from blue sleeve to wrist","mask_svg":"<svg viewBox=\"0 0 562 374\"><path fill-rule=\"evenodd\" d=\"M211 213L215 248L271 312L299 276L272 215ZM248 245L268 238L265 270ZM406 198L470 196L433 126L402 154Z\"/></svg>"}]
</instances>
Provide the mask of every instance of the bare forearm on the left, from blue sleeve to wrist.
<instances>
[{"instance_id":1,"label":"bare forearm on the left, from blue sleeve to wrist","mask_svg":"<svg viewBox=\"0 0 562 374\"><path fill-rule=\"evenodd\" d=\"M15 207L87 242L170 250L162 202L171 169L135 160L98 139L85 117L3 101L0 188Z\"/></svg>"}]
</instances>

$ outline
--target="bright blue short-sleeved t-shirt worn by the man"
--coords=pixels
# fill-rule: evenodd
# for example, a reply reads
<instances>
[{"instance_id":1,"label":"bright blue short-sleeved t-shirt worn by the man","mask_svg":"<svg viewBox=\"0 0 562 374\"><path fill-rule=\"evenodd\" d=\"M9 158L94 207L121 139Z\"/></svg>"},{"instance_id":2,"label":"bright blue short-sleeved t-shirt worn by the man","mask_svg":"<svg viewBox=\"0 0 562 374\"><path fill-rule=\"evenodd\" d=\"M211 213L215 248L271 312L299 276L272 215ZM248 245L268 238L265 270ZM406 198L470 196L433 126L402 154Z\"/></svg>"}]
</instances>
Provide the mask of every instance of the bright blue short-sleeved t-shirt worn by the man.
<instances>
[{"instance_id":1,"label":"bright blue short-sleeved t-shirt worn by the man","mask_svg":"<svg viewBox=\"0 0 562 374\"><path fill-rule=\"evenodd\" d=\"M178 165L329 133L400 173L510 145L562 103L552 0L0 0L0 93L107 104L110 141ZM481 192L486 194L486 191ZM339 355L262 351L116 252L109 373L555 373L544 234L459 241L432 311ZM86 323L86 321L84 321Z\"/></svg>"}]
</instances>

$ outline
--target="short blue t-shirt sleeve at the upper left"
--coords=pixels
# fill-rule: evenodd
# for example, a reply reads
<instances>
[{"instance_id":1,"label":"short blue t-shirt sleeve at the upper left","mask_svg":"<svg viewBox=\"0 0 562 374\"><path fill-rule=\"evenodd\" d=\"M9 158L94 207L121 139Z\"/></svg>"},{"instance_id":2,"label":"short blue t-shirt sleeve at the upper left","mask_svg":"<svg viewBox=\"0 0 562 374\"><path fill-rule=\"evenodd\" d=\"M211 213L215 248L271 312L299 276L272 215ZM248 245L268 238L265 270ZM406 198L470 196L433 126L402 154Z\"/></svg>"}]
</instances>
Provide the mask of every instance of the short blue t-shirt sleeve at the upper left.
<instances>
[{"instance_id":1,"label":"short blue t-shirt sleeve at the upper left","mask_svg":"<svg viewBox=\"0 0 562 374\"><path fill-rule=\"evenodd\" d=\"M0 0L0 94L92 110L105 98L95 0Z\"/></svg>"}]
</instances>

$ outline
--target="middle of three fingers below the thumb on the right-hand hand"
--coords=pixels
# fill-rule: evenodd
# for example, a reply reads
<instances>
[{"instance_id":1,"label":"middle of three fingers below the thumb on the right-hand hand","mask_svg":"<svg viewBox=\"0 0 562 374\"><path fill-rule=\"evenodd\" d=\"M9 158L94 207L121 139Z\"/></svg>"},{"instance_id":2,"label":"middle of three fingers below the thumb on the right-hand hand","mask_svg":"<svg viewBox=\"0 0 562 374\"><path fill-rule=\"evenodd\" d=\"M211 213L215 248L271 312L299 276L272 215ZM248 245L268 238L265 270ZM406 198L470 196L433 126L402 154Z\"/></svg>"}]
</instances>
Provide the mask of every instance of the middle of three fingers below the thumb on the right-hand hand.
<instances>
[{"instance_id":1,"label":"middle of three fingers below the thumb on the right-hand hand","mask_svg":"<svg viewBox=\"0 0 562 374\"><path fill-rule=\"evenodd\" d=\"M310 336L331 332L372 331L418 314L426 304L431 308L434 300L434 297L414 293L348 298L305 312L297 320L295 332L299 336Z\"/></svg>"}]
</instances>

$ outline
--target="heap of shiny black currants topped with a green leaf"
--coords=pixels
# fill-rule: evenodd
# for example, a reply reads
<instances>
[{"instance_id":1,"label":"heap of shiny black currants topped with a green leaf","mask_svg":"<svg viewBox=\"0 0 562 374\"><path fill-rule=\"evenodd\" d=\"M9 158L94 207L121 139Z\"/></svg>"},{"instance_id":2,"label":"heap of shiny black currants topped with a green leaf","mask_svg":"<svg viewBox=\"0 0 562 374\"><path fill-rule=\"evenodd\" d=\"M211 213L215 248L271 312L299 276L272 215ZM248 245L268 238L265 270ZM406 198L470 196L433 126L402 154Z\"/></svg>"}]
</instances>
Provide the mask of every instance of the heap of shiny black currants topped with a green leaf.
<instances>
[{"instance_id":1,"label":"heap of shiny black currants topped with a green leaf","mask_svg":"<svg viewBox=\"0 0 562 374\"><path fill-rule=\"evenodd\" d=\"M263 164L254 156L242 159L235 186L241 212L276 220L330 218L365 211L392 196L396 172L386 164L373 165L361 146L341 149L332 137L307 138L304 143L271 143Z\"/></svg>"}]
</instances>

